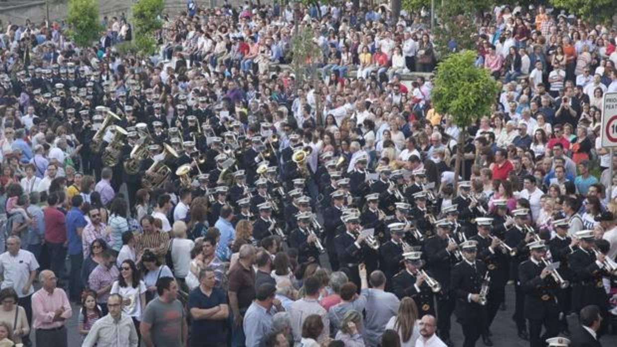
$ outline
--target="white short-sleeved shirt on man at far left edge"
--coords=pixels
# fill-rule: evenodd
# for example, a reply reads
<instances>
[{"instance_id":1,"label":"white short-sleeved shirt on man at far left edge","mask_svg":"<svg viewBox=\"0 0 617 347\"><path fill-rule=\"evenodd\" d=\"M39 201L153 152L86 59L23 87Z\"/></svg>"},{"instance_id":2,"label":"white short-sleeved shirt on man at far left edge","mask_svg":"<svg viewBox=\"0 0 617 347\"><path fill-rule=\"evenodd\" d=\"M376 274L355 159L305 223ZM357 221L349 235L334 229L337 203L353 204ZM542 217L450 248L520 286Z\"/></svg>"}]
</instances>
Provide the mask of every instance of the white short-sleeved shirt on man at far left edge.
<instances>
[{"instance_id":1,"label":"white short-sleeved shirt on man at far left edge","mask_svg":"<svg viewBox=\"0 0 617 347\"><path fill-rule=\"evenodd\" d=\"M9 251L2 253L0 255L0 273L4 280L0 288L14 288L20 298L32 295L35 292L32 285L30 285L26 295L23 294L22 288L28 282L30 272L38 268L39 264L35 256L27 250L19 250L15 256L12 256Z\"/></svg>"}]
</instances>

